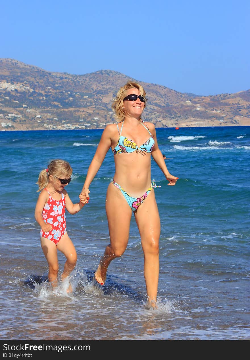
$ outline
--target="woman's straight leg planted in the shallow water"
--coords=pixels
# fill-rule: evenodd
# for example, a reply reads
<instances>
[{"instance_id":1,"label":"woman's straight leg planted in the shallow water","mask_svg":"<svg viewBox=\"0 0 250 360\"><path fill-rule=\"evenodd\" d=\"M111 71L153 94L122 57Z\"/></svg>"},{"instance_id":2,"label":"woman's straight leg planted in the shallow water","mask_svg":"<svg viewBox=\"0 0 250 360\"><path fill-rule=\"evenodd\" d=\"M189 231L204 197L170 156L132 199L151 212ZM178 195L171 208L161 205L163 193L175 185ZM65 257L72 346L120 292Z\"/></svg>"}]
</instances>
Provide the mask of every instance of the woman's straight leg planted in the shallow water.
<instances>
[{"instance_id":1,"label":"woman's straight leg planted in the shallow water","mask_svg":"<svg viewBox=\"0 0 250 360\"><path fill-rule=\"evenodd\" d=\"M148 302L152 307L157 307L156 297L159 279L159 237L161 223L154 190L151 190L134 215L144 252L144 278Z\"/></svg>"}]
</instances>

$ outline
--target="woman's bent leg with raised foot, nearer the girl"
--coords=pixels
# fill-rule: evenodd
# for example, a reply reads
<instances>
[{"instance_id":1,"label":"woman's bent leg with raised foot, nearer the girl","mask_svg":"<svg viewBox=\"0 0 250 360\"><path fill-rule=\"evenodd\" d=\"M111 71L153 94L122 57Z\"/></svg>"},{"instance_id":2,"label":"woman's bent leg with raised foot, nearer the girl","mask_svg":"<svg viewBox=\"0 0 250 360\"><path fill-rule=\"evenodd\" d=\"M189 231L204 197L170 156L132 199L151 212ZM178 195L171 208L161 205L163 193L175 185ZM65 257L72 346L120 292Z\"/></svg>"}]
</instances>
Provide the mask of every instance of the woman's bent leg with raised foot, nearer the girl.
<instances>
[{"instance_id":1,"label":"woman's bent leg with raised foot, nearer the girl","mask_svg":"<svg viewBox=\"0 0 250 360\"><path fill-rule=\"evenodd\" d=\"M95 273L96 281L104 284L107 268L115 257L120 257L128 245L129 227L132 211L124 196L112 183L108 185L106 196L106 214L110 244L106 247L103 257Z\"/></svg>"}]
</instances>

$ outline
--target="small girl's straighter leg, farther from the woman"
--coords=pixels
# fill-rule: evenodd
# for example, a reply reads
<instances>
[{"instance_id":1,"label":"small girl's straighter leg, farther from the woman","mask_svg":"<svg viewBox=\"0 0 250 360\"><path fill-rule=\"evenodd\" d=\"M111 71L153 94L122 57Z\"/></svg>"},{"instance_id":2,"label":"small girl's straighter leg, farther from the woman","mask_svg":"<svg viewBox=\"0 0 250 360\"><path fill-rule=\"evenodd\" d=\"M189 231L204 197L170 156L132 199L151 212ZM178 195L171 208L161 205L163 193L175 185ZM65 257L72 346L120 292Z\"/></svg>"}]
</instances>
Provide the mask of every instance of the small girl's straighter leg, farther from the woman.
<instances>
[{"instance_id":1,"label":"small girl's straighter leg, farther from the woman","mask_svg":"<svg viewBox=\"0 0 250 360\"><path fill-rule=\"evenodd\" d=\"M48 281L52 287L57 285L58 259L56 244L46 238L41 238L42 251L48 262Z\"/></svg>"}]
</instances>

